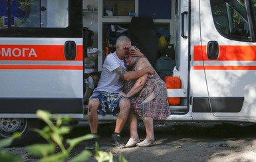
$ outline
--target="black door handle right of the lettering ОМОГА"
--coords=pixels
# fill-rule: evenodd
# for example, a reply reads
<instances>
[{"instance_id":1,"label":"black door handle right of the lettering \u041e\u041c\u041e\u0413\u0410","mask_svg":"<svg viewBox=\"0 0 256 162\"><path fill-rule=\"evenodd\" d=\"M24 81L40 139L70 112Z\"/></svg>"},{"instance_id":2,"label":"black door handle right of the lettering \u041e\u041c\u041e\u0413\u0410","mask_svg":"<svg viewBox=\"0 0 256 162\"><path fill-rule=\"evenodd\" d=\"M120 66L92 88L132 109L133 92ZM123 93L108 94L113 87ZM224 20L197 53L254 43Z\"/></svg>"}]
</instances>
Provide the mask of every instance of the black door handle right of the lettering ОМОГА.
<instances>
[{"instance_id":1,"label":"black door handle right of the lettering \u041e\u041c\u041e\u0413\u0410","mask_svg":"<svg viewBox=\"0 0 256 162\"><path fill-rule=\"evenodd\" d=\"M65 42L64 56L66 60L74 60L76 58L76 42L70 40Z\"/></svg>"}]
</instances>

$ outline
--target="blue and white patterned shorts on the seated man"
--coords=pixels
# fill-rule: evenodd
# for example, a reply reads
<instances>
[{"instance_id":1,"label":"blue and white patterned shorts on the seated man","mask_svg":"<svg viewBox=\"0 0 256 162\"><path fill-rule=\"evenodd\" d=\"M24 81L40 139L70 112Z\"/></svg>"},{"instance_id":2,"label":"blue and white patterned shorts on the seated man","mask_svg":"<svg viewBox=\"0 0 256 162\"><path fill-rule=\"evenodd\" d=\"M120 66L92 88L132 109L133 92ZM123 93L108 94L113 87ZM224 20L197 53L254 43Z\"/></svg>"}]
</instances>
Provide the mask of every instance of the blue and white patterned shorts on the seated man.
<instances>
[{"instance_id":1,"label":"blue and white patterned shorts on the seated man","mask_svg":"<svg viewBox=\"0 0 256 162\"><path fill-rule=\"evenodd\" d=\"M120 96L118 97L118 93L108 93L104 91L94 91L90 99L98 99L100 101L100 106L98 108L98 113L102 116L106 115L106 110L110 110L114 116L118 116L120 111L119 101L121 99L128 99L127 97ZM129 101L129 99L128 99Z\"/></svg>"}]
</instances>

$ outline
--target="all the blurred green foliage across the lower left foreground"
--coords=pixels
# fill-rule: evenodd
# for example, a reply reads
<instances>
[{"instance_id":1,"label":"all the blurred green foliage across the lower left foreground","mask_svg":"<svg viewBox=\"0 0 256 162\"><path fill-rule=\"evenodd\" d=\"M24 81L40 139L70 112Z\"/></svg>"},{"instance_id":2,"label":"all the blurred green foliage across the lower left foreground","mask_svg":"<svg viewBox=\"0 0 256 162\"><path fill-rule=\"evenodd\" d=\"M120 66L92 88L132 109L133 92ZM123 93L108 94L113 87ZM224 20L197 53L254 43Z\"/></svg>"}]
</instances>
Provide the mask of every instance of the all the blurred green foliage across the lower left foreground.
<instances>
[{"instance_id":1,"label":"all the blurred green foliage across the lower left foreground","mask_svg":"<svg viewBox=\"0 0 256 162\"><path fill-rule=\"evenodd\" d=\"M37 116L43 120L47 126L42 130L34 129L35 132L39 133L48 143L37 143L33 145L29 145L26 147L27 151L31 153L34 157L39 157L39 161L41 162L59 162L59 161L67 161L68 156L70 155L70 151L79 143L84 140L91 140L92 138L96 138L93 134L87 134L85 136L80 136L74 139L67 139L65 143L68 145L66 148L64 146L64 138L63 135L70 133L70 127L63 126L64 122L70 121L70 118L61 118L60 116L51 116L50 112L44 110L37 110ZM14 134L11 138L6 138L4 140L0 140L0 148L7 147L11 145L15 138L19 138L21 134ZM61 151L57 151L56 148L59 147ZM88 150L83 150L72 159L68 159L68 162L82 162L87 161L92 156L92 153ZM95 159L98 162L113 162L112 153L100 151L98 143L96 143L95 147ZM0 150L0 161L5 162L15 162L22 161L21 157L18 155L14 155L13 153L9 153L8 151ZM120 155L118 161L127 162L127 160Z\"/></svg>"}]
</instances>

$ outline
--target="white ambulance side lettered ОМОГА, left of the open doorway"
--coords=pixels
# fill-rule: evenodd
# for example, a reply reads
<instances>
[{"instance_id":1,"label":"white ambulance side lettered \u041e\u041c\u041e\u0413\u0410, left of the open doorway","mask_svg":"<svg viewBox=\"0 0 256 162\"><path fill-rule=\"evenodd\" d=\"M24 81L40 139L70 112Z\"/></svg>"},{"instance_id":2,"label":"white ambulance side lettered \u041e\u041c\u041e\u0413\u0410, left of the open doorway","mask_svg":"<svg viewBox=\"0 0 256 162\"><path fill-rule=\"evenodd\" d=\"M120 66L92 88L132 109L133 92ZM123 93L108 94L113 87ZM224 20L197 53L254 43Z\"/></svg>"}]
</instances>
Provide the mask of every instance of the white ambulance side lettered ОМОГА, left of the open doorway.
<instances>
[{"instance_id":1,"label":"white ambulance side lettered \u041e\u041c\u041e\u0413\u0410, left of the open doorway","mask_svg":"<svg viewBox=\"0 0 256 162\"><path fill-rule=\"evenodd\" d=\"M37 110L82 118L82 0L0 2L0 136Z\"/></svg>"}]
</instances>

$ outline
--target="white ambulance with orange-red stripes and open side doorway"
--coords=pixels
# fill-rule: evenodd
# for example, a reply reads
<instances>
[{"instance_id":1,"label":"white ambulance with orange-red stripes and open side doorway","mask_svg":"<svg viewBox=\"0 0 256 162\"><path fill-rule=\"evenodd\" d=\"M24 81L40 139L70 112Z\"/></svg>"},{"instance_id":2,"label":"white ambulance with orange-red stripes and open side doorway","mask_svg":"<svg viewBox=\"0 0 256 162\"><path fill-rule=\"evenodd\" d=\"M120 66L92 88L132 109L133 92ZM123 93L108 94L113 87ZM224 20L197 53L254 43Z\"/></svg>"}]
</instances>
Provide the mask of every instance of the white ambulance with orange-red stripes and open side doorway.
<instances>
[{"instance_id":1,"label":"white ambulance with orange-red stripes and open side doorway","mask_svg":"<svg viewBox=\"0 0 256 162\"><path fill-rule=\"evenodd\" d=\"M87 120L82 3L0 2L1 138L21 132L16 144L29 140L39 109ZM166 120L256 122L256 1L171 4L171 43L181 87L167 89L168 97L180 103L170 105ZM105 49L98 46L100 73ZM116 118L109 114L99 119Z\"/></svg>"}]
</instances>

